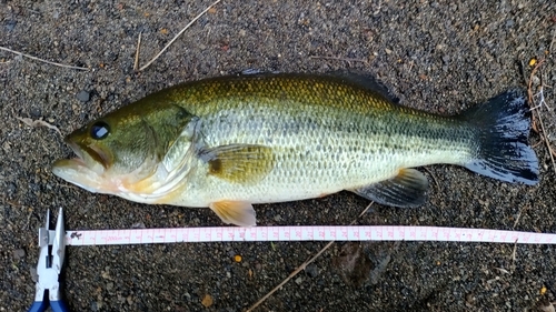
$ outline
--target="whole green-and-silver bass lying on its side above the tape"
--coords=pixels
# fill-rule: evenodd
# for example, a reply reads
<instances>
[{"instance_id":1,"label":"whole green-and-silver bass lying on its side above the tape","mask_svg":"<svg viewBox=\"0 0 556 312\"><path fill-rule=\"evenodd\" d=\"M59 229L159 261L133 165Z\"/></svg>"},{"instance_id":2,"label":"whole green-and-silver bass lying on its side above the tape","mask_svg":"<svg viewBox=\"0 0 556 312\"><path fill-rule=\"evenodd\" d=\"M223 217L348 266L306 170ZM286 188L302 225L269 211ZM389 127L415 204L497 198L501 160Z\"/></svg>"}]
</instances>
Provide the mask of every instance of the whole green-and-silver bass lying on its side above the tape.
<instances>
[{"instance_id":1,"label":"whole green-and-silver bass lying on its side above the tape","mask_svg":"<svg viewBox=\"0 0 556 312\"><path fill-rule=\"evenodd\" d=\"M170 87L89 122L64 138L77 158L52 173L90 192L210 208L252 227L254 204L342 190L419 207L428 180L416 168L430 164L534 185L529 130L519 90L440 115L401 105L367 73L236 74Z\"/></svg>"}]
</instances>

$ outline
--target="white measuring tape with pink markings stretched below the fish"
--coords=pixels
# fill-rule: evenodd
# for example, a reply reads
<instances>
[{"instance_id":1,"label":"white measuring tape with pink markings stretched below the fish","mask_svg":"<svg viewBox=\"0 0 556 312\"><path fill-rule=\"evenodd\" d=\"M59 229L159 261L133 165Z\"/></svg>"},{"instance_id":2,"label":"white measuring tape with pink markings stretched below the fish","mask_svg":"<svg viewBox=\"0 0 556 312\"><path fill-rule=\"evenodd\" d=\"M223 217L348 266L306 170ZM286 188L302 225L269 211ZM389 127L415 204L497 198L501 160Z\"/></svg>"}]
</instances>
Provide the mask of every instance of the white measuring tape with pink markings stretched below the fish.
<instances>
[{"instance_id":1,"label":"white measuring tape with pink markings stretched below the fish","mask_svg":"<svg viewBox=\"0 0 556 312\"><path fill-rule=\"evenodd\" d=\"M50 232L50 238L53 238L53 231ZM556 244L556 234L488 229L396 225L219 227L66 231L66 243L68 245L265 241L436 241Z\"/></svg>"}]
</instances>

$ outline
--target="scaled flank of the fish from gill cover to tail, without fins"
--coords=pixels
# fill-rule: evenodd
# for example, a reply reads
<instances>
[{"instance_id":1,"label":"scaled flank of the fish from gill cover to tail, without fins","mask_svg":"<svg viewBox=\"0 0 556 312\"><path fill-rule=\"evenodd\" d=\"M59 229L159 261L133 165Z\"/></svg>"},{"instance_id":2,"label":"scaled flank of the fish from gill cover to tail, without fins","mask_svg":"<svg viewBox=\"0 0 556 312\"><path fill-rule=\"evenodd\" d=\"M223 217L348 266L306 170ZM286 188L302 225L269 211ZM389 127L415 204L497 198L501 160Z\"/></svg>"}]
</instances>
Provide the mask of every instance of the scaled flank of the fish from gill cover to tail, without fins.
<instances>
[{"instance_id":1,"label":"scaled flank of the fish from gill cover to tail, without fins","mask_svg":"<svg viewBox=\"0 0 556 312\"><path fill-rule=\"evenodd\" d=\"M183 191L171 202L175 204L206 207L215 197L254 203L315 198L346 185L383 181L401 168L439 159L464 163L474 142L473 131L455 128L461 122L453 118L394 105L363 88L318 79L248 77L232 82L209 80L183 89L172 90L170 97L200 117L208 147L271 147L280 165L256 184L206 177L198 170L189 184L201 187ZM430 127L430 121L436 125Z\"/></svg>"}]
</instances>

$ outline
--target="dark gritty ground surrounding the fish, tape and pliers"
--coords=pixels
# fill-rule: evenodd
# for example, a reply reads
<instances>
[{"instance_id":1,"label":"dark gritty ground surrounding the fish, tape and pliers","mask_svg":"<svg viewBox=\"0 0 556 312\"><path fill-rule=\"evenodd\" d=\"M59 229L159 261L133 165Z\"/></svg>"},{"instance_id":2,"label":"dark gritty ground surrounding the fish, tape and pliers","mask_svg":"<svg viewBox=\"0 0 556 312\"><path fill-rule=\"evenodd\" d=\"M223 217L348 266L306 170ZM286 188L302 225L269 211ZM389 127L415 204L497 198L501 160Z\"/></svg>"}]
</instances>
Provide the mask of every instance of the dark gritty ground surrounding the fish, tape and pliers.
<instances>
[{"instance_id":1,"label":"dark gritty ground surrounding the fish, tape and pliers","mask_svg":"<svg viewBox=\"0 0 556 312\"><path fill-rule=\"evenodd\" d=\"M66 134L152 91L245 69L365 70L401 103L451 114L509 88L525 92L522 70L528 77L532 58L546 58L537 78L554 105L555 1L225 0L150 68L133 71L140 32L145 64L209 4L0 0L0 46L90 69L0 51L0 311L22 311L33 301L36 229L47 209L63 207L67 229L221 224L208 209L143 205L57 179L52 162L71 151L56 131L30 128L18 117L43 119ZM540 112L554 138L554 112ZM375 205L358 224L556 232L554 168L542 135L533 132L530 142L542 168L538 185L433 165L424 171L436 180L426 204ZM344 192L256 210L264 225L347 224L367 204ZM63 294L72 311L245 311L324 245L70 246ZM360 249L368 260L348 279L336 264L358 245L336 243L256 311L530 311L540 301L556 301L550 245L519 245L515 262L512 244L363 243ZM241 262L234 261L236 254Z\"/></svg>"}]
</instances>

